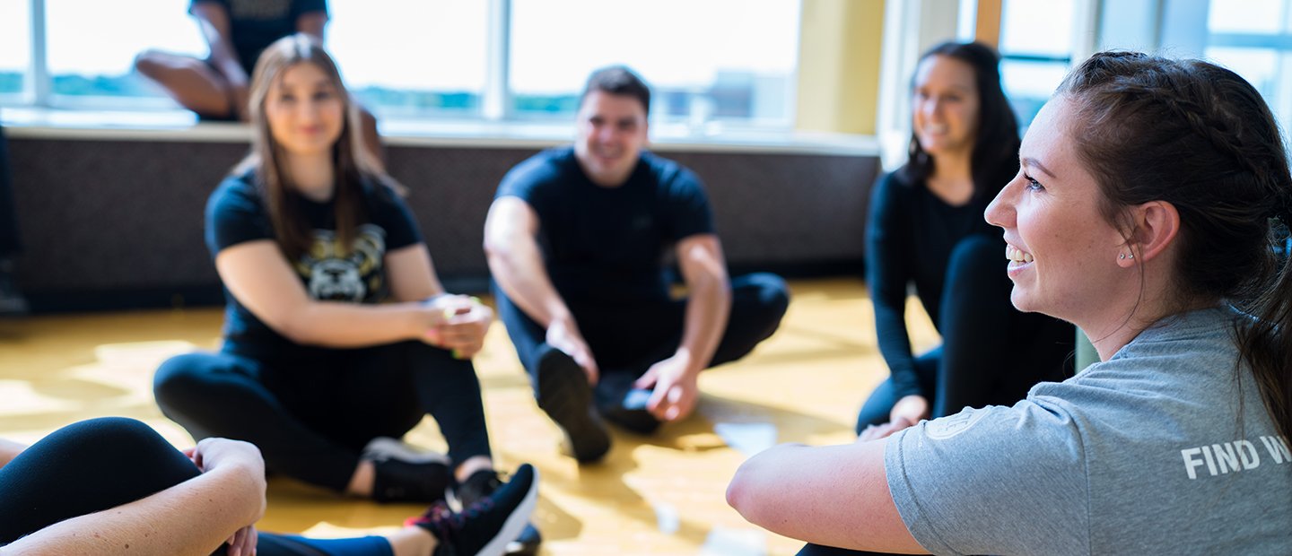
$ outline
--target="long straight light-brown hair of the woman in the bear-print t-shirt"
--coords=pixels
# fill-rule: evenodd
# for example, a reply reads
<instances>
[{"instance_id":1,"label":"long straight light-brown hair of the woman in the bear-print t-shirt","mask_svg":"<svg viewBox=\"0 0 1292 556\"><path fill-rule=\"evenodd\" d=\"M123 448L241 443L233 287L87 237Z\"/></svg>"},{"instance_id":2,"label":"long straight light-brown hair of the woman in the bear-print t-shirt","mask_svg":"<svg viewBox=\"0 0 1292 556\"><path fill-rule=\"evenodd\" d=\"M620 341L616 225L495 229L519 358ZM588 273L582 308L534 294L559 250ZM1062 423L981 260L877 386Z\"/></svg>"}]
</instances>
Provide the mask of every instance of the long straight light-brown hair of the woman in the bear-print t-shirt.
<instances>
[{"instance_id":1,"label":"long straight light-brown hair of the woman in the bear-print t-shirt","mask_svg":"<svg viewBox=\"0 0 1292 556\"><path fill-rule=\"evenodd\" d=\"M295 261L307 252L314 237L309 223L301 215L300 197L291 195L292 177L283 164L283 147L274 141L274 134L269 130L265 98L283 72L298 63L310 63L322 70L341 97L345 108L341 135L332 146L333 175L337 182L333 194L336 235L342 253L351 249L357 230L367 218L362 201L364 184L384 184L394 191L402 191L402 187L385 173L381 163L363 148L358 132L362 129L358 107L341 81L336 62L323 45L305 34L274 41L261 53L252 72L248 107L253 129L252 148L234 168L234 173L256 172L257 187L269 212L270 223L274 226L274 236L288 261Z\"/></svg>"}]
</instances>

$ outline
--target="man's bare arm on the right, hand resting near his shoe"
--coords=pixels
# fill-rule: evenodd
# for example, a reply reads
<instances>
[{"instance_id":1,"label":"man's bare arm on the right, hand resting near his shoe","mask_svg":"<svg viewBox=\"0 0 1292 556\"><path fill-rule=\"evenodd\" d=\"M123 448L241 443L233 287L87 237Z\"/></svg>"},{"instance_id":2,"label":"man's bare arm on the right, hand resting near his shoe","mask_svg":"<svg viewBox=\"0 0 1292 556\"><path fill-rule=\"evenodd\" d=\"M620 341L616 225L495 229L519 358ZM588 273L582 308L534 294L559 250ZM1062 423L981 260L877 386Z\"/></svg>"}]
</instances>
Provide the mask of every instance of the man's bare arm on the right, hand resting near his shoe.
<instances>
[{"instance_id":1,"label":"man's bare arm on the right, hand resting near his shoe","mask_svg":"<svg viewBox=\"0 0 1292 556\"><path fill-rule=\"evenodd\" d=\"M672 357L651 365L636 383L638 388L654 386L646 409L664 421L685 418L695 409L699 374L713 360L731 311L731 285L717 235L698 233L678 241L677 262L687 286L682 342Z\"/></svg>"}]
</instances>

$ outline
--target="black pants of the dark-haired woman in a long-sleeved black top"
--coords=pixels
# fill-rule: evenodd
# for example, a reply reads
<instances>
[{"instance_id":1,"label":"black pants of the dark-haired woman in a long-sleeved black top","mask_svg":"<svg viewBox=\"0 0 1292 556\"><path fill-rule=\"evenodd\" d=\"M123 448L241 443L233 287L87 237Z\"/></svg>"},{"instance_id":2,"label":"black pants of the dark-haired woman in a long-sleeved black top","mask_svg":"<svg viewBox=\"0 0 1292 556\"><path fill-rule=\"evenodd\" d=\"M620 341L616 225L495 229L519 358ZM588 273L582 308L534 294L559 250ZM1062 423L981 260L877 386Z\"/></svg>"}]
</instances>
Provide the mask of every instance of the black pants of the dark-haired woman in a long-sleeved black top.
<instances>
[{"instance_id":1,"label":"black pants of the dark-haired woman in a long-sleeved black top","mask_svg":"<svg viewBox=\"0 0 1292 556\"><path fill-rule=\"evenodd\" d=\"M999 244L970 236L951 253L937 323L943 343L915 359L920 388L932 395L932 417L1013 405L1037 382L1072 374L1075 329L1010 304ZM880 383L857 417L857 432L886 423L897 401L893 379Z\"/></svg>"}]
</instances>

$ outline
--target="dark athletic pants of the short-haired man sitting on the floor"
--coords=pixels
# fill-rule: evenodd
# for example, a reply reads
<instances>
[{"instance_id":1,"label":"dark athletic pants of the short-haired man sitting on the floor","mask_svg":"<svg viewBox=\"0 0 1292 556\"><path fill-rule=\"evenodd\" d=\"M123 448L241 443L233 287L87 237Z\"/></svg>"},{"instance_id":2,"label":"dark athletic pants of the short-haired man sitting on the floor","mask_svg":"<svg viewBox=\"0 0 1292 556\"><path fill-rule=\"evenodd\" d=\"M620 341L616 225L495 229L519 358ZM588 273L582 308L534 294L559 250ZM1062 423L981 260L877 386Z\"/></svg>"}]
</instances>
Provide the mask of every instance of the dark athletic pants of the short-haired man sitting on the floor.
<instances>
[{"instance_id":1,"label":"dark athletic pants of the short-haired man sitting on the floor","mask_svg":"<svg viewBox=\"0 0 1292 556\"><path fill-rule=\"evenodd\" d=\"M494 285L497 313L516 344L530 377L536 377L537 359L547 330ZM579 303L566 299L583 333L601 379L598 400L623 400L632 382L651 365L668 359L682 341L686 299L651 303ZM779 276L757 272L731 280L731 312L713 359L705 366L735 361L771 337L789 307L789 289ZM536 383L536 382L535 382Z\"/></svg>"}]
</instances>

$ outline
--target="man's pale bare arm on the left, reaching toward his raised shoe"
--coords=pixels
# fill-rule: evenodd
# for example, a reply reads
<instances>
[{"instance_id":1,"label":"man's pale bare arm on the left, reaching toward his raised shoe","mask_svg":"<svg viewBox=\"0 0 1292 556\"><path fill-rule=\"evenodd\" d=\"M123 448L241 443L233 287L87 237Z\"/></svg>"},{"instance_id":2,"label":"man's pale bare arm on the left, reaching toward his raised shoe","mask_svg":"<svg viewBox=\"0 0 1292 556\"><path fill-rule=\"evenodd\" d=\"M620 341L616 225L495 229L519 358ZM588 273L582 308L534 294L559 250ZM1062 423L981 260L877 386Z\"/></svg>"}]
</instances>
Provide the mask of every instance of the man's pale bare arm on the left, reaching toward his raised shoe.
<instances>
[{"instance_id":1,"label":"man's pale bare arm on the left, reaching toward his raised shoe","mask_svg":"<svg viewBox=\"0 0 1292 556\"><path fill-rule=\"evenodd\" d=\"M539 250L539 215L519 197L494 201L484 219L484 254L488 270L508 298L547 329L547 342L568 353L596 382L599 374L574 313L552 285Z\"/></svg>"}]
</instances>

